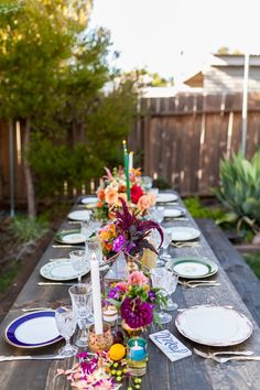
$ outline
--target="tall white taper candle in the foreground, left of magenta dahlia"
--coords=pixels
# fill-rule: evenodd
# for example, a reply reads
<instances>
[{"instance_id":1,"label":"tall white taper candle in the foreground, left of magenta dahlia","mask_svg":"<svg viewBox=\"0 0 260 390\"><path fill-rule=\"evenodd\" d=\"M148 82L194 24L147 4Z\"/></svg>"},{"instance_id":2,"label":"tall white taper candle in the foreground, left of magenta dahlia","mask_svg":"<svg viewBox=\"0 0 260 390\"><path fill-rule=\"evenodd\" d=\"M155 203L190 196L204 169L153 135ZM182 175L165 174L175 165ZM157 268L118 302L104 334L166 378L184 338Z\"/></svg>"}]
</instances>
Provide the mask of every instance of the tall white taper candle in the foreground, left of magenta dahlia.
<instances>
[{"instance_id":1,"label":"tall white taper candle in the foreground, left of magenta dahlia","mask_svg":"<svg viewBox=\"0 0 260 390\"><path fill-rule=\"evenodd\" d=\"M90 258L91 285L93 285L93 308L95 332L97 335L102 334L102 308L101 308L101 290L99 279L99 264L95 253Z\"/></svg>"}]
</instances>

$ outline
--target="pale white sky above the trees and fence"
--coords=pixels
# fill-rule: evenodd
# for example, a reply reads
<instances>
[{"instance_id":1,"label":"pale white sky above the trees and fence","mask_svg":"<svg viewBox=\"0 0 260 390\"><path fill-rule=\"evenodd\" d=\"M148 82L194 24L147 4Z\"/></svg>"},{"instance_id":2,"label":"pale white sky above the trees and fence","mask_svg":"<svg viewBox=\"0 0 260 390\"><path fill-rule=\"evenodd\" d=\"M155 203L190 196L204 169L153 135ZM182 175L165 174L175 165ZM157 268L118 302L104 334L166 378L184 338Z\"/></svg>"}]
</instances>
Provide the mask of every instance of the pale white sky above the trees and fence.
<instances>
[{"instance_id":1,"label":"pale white sky above the trees and fence","mask_svg":"<svg viewBox=\"0 0 260 390\"><path fill-rule=\"evenodd\" d=\"M94 0L90 28L111 33L123 71L181 77L209 53L260 54L260 0Z\"/></svg>"}]
</instances>

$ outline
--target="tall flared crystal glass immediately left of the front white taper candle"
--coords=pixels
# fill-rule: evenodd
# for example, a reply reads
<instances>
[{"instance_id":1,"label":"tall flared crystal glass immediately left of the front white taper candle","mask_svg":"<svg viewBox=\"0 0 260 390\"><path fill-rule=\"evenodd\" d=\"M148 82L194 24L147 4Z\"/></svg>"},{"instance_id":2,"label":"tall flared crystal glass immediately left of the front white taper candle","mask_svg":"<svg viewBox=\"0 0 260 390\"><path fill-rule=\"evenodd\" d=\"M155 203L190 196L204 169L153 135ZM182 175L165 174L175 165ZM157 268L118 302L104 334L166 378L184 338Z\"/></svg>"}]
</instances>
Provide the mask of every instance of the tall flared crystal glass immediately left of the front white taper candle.
<instances>
[{"instance_id":1,"label":"tall flared crystal glass immediately left of the front white taper candle","mask_svg":"<svg viewBox=\"0 0 260 390\"><path fill-rule=\"evenodd\" d=\"M90 286L84 283L75 284L68 289L72 299L73 310L75 312L80 335L76 339L78 347L87 347L88 333L87 327L93 322L91 304L93 294Z\"/></svg>"}]
</instances>

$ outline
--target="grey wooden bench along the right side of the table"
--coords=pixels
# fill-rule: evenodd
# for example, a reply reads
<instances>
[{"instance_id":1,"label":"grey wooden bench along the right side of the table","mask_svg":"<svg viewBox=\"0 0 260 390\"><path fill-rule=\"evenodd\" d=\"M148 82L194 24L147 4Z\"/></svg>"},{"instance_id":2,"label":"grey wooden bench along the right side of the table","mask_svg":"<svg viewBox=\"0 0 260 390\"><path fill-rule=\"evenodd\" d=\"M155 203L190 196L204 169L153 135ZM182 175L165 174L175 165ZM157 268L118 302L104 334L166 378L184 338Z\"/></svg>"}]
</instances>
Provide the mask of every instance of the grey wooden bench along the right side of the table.
<instances>
[{"instance_id":1,"label":"grey wooden bench along the right side of the table","mask_svg":"<svg viewBox=\"0 0 260 390\"><path fill-rule=\"evenodd\" d=\"M254 321L260 325L260 281L212 219L196 219L216 258L241 296Z\"/></svg>"}]
</instances>

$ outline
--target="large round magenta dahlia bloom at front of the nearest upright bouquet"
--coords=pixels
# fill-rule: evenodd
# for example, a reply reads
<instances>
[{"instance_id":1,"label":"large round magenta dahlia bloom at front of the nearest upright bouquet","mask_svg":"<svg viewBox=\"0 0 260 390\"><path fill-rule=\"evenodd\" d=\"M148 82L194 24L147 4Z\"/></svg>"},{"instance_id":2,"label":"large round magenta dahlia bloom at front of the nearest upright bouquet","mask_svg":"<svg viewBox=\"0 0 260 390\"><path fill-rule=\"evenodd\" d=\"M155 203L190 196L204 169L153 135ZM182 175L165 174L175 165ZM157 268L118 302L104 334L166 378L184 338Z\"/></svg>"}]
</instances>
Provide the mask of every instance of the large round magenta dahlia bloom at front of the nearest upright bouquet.
<instances>
[{"instance_id":1,"label":"large round magenta dahlia bloom at front of the nearest upright bouquet","mask_svg":"<svg viewBox=\"0 0 260 390\"><path fill-rule=\"evenodd\" d=\"M121 304L121 317L133 329L148 326L153 319L153 305L142 302L140 297L127 296Z\"/></svg>"}]
</instances>

